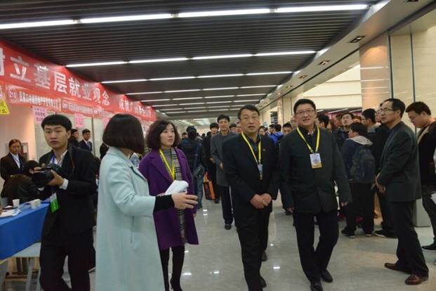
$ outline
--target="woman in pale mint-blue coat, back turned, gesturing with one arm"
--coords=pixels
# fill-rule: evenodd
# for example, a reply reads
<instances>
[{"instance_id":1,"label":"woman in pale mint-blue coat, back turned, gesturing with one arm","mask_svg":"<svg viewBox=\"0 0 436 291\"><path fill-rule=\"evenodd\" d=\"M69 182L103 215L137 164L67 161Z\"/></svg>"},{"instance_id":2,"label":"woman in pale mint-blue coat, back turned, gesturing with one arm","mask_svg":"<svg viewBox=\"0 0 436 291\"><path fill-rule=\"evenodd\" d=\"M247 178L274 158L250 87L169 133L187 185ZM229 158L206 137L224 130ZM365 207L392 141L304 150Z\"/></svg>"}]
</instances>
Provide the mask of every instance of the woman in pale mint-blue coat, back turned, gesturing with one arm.
<instances>
[{"instance_id":1,"label":"woman in pale mint-blue coat, back turned, gesturing with one arm","mask_svg":"<svg viewBox=\"0 0 436 291\"><path fill-rule=\"evenodd\" d=\"M110 149L100 167L95 290L164 290L153 212L192 208L197 196L149 195L147 180L129 160L132 153L144 151L136 117L112 117L103 142Z\"/></svg>"}]
</instances>

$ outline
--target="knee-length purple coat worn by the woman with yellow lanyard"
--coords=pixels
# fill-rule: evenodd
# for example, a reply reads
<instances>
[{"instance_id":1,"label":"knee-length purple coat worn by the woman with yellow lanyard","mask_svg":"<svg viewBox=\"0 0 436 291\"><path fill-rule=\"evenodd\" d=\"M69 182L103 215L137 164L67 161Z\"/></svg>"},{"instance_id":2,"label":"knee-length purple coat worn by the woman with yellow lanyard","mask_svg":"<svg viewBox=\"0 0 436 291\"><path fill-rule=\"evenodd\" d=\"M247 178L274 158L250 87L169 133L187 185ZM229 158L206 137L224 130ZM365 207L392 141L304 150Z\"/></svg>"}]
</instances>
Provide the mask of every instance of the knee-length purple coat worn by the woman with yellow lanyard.
<instances>
[{"instance_id":1,"label":"knee-length purple coat worn by the woman with yellow lanyard","mask_svg":"<svg viewBox=\"0 0 436 291\"><path fill-rule=\"evenodd\" d=\"M176 149L183 180L189 184L188 193L194 193L192 178L189 165L185 154ZM139 171L148 182L150 195L156 196L164 193L169 188L173 180L166 170L164 162L161 160L158 150L152 150L146 155L139 164ZM194 223L194 209L185 209L186 240L190 245L198 245L197 229ZM157 243L159 250L168 250L170 247L183 245L180 236L180 226L176 208L171 207L154 213L154 225L156 226Z\"/></svg>"}]
</instances>

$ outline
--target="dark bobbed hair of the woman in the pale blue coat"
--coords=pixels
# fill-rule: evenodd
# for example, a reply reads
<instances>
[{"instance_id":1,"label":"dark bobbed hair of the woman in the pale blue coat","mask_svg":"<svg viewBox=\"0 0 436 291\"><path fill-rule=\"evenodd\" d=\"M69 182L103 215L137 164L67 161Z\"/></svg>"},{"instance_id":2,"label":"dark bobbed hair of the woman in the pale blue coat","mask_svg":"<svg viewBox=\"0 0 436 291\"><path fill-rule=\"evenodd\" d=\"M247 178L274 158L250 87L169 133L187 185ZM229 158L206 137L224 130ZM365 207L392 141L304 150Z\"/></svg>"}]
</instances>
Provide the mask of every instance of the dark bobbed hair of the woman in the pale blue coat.
<instances>
[{"instance_id":1,"label":"dark bobbed hair of the woman in the pale blue coat","mask_svg":"<svg viewBox=\"0 0 436 291\"><path fill-rule=\"evenodd\" d=\"M133 115L114 115L107 123L103 133L103 143L115 148L128 148L135 153L143 154L143 127Z\"/></svg>"}]
</instances>

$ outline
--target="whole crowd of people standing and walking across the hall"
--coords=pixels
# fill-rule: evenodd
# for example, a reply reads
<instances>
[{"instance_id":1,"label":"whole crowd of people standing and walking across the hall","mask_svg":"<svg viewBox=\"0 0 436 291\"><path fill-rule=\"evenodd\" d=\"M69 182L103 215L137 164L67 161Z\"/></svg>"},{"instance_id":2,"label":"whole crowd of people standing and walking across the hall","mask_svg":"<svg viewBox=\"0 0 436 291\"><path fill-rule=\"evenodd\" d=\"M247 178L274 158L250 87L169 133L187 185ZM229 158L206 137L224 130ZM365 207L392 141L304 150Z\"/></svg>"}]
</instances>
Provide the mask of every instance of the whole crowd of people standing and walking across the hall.
<instances>
[{"instance_id":1,"label":"whole crowd of people standing and walking across the hall","mask_svg":"<svg viewBox=\"0 0 436 291\"><path fill-rule=\"evenodd\" d=\"M143 136L136 117L117 114L105 128L100 159L92 154L91 131L84 129L79 142L79 132L62 115L49 115L41 124L52 150L39 162L26 161L20 141L11 140L10 153L0 160L2 204L15 198L50 202L41 238L41 287L90 290L88 272L95 268L99 291L182 290L185 245L201 244L195 216L205 175L214 202L221 203L225 230L237 228L250 291L267 286L260 269L278 193L285 214L293 216L310 290L333 282L328 266L344 217L346 238L356 238L359 227L367 237L397 238L397 261L385 268L407 273L407 285L428 280L423 250L436 251L436 121L428 105L406 108L391 98L362 115L330 119L317 115L313 101L300 99L293 113L283 126L264 127L258 109L244 105L237 124L219 115L204 136L195 127L180 136L164 119ZM418 134L402 122L404 113ZM51 178L41 186L34 178L48 169ZM185 189L167 193L174 181L185 181ZM383 218L377 231L375 197ZM423 247L412 219L421 197L435 237ZM71 287L62 279L66 257Z\"/></svg>"}]
</instances>

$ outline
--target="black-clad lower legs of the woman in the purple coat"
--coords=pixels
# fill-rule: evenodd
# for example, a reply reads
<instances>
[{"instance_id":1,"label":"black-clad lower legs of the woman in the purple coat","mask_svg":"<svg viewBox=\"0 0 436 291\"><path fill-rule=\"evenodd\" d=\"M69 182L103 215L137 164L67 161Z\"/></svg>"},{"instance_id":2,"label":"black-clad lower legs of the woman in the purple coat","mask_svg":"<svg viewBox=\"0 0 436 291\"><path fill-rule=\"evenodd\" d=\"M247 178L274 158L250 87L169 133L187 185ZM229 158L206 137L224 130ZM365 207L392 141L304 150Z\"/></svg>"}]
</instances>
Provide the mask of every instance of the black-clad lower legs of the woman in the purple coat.
<instances>
[{"instance_id":1,"label":"black-clad lower legs of the woman in the purple coat","mask_svg":"<svg viewBox=\"0 0 436 291\"><path fill-rule=\"evenodd\" d=\"M183 261L185 261L185 246L171 247L173 252L173 272L171 273L171 285L174 291L180 290L180 276L182 275ZM169 291L168 281L168 263L169 263L169 249L161 250L161 264L164 273L165 291Z\"/></svg>"}]
</instances>

